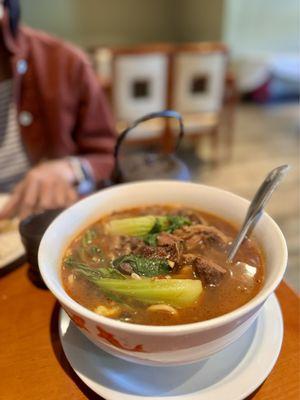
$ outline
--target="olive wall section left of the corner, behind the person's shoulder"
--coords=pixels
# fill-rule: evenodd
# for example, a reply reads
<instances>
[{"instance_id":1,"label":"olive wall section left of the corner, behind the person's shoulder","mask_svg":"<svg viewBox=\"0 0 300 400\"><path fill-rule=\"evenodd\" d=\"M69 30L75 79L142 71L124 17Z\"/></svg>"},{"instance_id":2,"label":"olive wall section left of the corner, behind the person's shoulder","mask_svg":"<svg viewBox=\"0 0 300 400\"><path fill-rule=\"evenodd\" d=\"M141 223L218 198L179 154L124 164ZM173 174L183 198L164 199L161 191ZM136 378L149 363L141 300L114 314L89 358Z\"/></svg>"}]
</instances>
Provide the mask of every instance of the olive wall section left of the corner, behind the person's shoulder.
<instances>
[{"instance_id":1,"label":"olive wall section left of the corner, behind the person's shoulder","mask_svg":"<svg viewBox=\"0 0 300 400\"><path fill-rule=\"evenodd\" d=\"M175 0L21 0L22 20L84 47L172 40Z\"/></svg>"}]
</instances>

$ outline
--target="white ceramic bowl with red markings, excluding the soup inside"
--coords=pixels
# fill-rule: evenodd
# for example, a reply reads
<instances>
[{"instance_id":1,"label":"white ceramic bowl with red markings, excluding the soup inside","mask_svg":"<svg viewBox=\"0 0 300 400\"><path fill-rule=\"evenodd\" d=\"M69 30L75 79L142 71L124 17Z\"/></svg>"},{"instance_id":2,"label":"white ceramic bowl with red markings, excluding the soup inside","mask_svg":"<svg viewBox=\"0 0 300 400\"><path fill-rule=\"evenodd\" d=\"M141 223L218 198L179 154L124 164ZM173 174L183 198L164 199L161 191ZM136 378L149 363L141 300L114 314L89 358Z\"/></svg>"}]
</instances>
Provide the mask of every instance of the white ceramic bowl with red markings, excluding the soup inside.
<instances>
[{"instance_id":1,"label":"white ceramic bowl with red markings, excluding the soup inside","mask_svg":"<svg viewBox=\"0 0 300 400\"><path fill-rule=\"evenodd\" d=\"M194 183L145 181L118 185L60 214L46 231L39 248L42 277L81 332L101 349L141 364L188 364L207 358L237 340L280 283L287 263L285 239L272 218L264 214L254 230L266 259L263 288L250 302L221 317L176 326L134 325L97 315L66 294L60 278L62 255L82 229L116 210L172 203L212 212L238 225L249 205L247 200L232 193Z\"/></svg>"}]
</instances>

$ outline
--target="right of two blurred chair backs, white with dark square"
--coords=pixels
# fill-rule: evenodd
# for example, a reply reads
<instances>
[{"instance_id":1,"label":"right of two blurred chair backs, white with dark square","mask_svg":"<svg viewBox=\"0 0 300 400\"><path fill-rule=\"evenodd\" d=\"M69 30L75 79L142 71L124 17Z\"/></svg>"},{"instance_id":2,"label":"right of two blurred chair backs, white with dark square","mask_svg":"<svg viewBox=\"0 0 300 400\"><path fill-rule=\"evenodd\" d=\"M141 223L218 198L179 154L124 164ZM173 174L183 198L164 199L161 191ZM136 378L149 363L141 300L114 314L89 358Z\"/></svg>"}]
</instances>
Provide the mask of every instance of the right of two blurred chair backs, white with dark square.
<instances>
[{"instance_id":1,"label":"right of two blurred chair backs, white with dark square","mask_svg":"<svg viewBox=\"0 0 300 400\"><path fill-rule=\"evenodd\" d=\"M226 71L227 49L222 44L178 46L172 56L171 107L182 114L187 136L210 135L214 161L218 159Z\"/></svg>"}]
</instances>

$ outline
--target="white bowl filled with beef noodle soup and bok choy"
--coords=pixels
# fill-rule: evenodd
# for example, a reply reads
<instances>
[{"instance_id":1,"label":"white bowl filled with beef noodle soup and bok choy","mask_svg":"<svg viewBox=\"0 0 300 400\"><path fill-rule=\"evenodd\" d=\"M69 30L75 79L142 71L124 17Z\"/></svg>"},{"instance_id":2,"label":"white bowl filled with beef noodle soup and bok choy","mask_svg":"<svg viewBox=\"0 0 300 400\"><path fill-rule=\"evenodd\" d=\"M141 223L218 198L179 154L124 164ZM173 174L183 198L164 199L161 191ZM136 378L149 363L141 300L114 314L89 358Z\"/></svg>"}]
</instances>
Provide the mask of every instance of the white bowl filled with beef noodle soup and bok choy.
<instances>
[{"instance_id":1,"label":"white bowl filled with beef noodle soup and bok choy","mask_svg":"<svg viewBox=\"0 0 300 400\"><path fill-rule=\"evenodd\" d=\"M227 262L248 205L186 182L108 188L52 222L40 272L101 349L147 365L196 362L253 324L286 268L285 239L266 213Z\"/></svg>"}]
</instances>

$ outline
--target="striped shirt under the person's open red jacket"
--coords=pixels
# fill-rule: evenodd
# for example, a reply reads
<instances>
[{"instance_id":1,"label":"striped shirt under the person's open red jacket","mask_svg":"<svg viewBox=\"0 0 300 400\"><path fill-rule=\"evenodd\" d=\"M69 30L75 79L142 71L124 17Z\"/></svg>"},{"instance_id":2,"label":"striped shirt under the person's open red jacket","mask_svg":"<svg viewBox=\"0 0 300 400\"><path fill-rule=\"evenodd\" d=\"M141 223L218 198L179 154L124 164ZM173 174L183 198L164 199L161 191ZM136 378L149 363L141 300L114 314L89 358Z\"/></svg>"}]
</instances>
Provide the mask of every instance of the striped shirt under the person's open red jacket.
<instances>
[{"instance_id":1,"label":"striped shirt under the person's open red jacket","mask_svg":"<svg viewBox=\"0 0 300 400\"><path fill-rule=\"evenodd\" d=\"M5 80L0 82L0 192L10 191L29 168L13 101L13 81Z\"/></svg>"}]
</instances>

